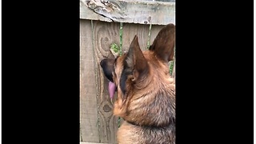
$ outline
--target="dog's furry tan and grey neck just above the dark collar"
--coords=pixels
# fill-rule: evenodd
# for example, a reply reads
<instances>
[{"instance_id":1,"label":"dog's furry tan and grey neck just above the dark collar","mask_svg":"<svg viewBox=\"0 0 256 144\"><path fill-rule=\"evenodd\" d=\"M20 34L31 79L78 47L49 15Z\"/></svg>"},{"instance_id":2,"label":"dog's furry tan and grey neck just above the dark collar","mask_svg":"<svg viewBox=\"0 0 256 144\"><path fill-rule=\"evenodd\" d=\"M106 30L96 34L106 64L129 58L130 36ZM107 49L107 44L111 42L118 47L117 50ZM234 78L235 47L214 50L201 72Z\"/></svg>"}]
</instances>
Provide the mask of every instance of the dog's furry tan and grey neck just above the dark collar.
<instances>
[{"instance_id":1,"label":"dog's furry tan and grey neck just above the dark collar","mask_svg":"<svg viewBox=\"0 0 256 144\"><path fill-rule=\"evenodd\" d=\"M175 124L174 90L170 86L161 86L148 93L135 94L127 103L126 112L121 116L135 126L165 127ZM138 103L150 101L138 105ZM133 102L133 103L129 103Z\"/></svg>"}]
</instances>

